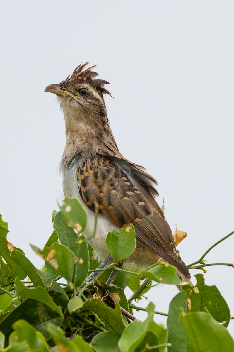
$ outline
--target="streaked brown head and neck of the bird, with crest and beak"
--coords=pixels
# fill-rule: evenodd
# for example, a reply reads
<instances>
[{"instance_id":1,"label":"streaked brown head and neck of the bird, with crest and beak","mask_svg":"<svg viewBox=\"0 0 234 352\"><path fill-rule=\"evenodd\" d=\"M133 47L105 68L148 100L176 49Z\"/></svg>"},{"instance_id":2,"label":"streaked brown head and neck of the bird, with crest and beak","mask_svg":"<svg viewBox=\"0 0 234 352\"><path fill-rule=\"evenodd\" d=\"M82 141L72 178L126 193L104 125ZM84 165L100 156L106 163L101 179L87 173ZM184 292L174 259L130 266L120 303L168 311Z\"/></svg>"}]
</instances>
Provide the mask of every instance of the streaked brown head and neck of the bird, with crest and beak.
<instances>
[{"instance_id":1,"label":"streaked brown head and neck of the bird, with crest and beak","mask_svg":"<svg viewBox=\"0 0 234 352\"><path fill-rule=\"evenodd\" d=\"M117 148L103 99L103 94L110 94L104 87L109 82L95 78L98 73L92 69L96 66L85 68L87 64L81 63L66 80L51 84L45 92L57 95L64 112L66 145L77 150L99 150L107 139L108 150Z\"/></svg>"}]
</instances>

